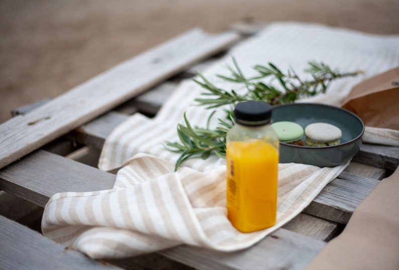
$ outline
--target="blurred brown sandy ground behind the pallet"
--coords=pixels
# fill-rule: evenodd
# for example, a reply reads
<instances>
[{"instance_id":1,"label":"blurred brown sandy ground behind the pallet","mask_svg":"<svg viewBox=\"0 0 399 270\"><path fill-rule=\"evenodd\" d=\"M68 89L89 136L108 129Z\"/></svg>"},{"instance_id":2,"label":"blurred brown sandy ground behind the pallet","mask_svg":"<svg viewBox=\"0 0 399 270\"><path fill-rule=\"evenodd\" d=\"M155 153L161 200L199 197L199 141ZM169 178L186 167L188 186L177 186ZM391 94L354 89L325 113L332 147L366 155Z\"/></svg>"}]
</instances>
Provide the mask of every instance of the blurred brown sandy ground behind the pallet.
<instances>
[{"instance_id":1,"label":"blurred brown sandy ground behind the pallet","mask_svg":"<svg viewBox=\"0 0 399 270\"><path fill-rule=\"evenodd\" d=\"M399 34L397 0L0 0L0 123L199 26L300 21Z\"/></svg>"}]
</instances>

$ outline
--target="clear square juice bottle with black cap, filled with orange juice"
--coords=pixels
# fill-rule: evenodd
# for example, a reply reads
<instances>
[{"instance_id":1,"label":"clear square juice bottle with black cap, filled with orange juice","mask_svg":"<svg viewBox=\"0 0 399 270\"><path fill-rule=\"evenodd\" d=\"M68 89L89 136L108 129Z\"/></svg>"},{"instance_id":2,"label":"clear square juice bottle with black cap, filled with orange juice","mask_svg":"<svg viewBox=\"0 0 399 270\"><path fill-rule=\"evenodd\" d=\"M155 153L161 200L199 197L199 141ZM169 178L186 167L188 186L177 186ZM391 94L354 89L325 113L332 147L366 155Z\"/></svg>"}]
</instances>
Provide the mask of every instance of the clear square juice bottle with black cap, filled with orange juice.
<instances>
[{"instance_id":1,"label":"clear square juice bottle with black cap, filled with orange juice","mask_svg":"<svg viewBox=\"0 0 399 270\"><path fill-rule=\"evenodd\" d=\"M234 115L226 138L228 218L238 230L251 232L276 222L279 142L269 104L240 102Z\"/></svg>"}]
</instances>

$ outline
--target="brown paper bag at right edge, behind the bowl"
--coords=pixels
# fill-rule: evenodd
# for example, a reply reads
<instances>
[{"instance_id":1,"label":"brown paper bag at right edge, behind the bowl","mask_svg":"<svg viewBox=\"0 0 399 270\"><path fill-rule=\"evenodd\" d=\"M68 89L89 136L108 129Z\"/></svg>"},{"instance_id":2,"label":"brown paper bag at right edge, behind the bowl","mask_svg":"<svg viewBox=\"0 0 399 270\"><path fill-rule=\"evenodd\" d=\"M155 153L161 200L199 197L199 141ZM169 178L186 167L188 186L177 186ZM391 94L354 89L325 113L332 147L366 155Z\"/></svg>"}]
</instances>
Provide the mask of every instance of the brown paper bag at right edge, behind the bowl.
<instances>
[{"instance_id":1,"label":"brown paper bag at right edge, behind the bowl","mask_svg":"<svg viewBox=\"0 0 399 270\"><path fill-rule=\"evenodd\" d=\"M367 126L399 130L399 67L355 85L342 108Z\"/></svg>"}]
</instances>

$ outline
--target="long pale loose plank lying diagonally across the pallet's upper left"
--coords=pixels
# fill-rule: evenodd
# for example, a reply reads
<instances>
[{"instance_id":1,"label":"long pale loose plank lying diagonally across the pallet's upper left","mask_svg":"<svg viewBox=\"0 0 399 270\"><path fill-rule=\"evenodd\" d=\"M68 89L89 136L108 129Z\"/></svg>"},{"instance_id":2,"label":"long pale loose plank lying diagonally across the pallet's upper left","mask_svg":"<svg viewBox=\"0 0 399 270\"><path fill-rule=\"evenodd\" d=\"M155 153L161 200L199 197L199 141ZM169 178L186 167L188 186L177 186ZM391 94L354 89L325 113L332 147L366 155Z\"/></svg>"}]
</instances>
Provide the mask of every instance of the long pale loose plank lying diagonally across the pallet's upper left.
<instances>
[{"instance_id":1,"label":"long pale loose plank lying diagonally across the pallet's upper left","mask_svg":"<svg viewBox=\"0 0 399 270\"><path fill-rule=\"evenodd\" d=\"M194 29L0 125L0 168L237 41Z\"/></svg>"}]
</instances>

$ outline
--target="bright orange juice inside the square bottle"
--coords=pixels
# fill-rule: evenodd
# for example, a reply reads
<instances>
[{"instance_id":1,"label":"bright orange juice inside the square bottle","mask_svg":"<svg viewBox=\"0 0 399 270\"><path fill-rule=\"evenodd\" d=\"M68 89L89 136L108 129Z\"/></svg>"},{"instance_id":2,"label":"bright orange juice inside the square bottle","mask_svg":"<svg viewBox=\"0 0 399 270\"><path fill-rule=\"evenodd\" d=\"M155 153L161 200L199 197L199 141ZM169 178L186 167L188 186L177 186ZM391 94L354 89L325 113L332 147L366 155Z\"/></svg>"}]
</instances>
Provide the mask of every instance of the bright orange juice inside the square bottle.
<instances>
[{"instance_id":1,"label":"bright orange juice inside the square bottle","mask_svg":"<svg viewBox=\"0 0 399 270\"><path fill-rule=\"evenodd\" d=\"M276 222L278 150L262 140L226 145L227 209L235 228L251 232Z\"/></svg>"}]
</instances>

